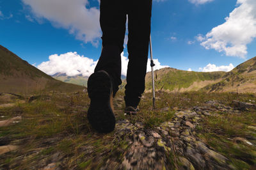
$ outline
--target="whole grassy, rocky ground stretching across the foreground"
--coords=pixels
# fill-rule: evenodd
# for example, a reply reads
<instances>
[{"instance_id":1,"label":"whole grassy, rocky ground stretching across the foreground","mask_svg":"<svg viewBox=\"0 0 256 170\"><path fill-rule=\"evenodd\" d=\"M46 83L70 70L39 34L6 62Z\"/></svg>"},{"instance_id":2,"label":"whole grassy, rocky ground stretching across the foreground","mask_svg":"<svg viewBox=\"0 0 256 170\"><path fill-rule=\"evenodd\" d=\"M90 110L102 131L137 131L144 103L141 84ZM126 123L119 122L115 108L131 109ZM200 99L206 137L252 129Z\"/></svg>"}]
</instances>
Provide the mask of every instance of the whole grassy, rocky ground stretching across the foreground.
<instances>
[{"instance_id":1,"label":"whole grassy, rocky ground stretching across the foreground","mask_svg":"<svg viewBox=\"0 0 256 170\"><path fill-rule=\"evenodd\" d=\"M161 100L157 109L149 106L150 94L145 95L143 98L148 101L145 100L143 103L142 99L140 115L135 116L125 115L122 110L124 109L122 97L116 97L114 104L117 122L115 131L111 134L97 134L89 125L84 124L88 100L81 107L77 95L66 96L68 102L60 97L62 100L54 102L54 106L63 112L66 111L65 105L69 105L71 109L67 112L76 115L74 120L70 117L73 123L70 124L70 129L61 128L60 132L51 135L37 134L33 137L40 129L33 132L34 134L26 132L25 135L21 135L22 122L28 124L31 122L28 120L36 116L24 112L28 112L32 107L40 112L38 108L42 106L38 105L41 104L38 102L52 102L51 95L29 99L2 94L2 98L8 103L0 104L0 169L253 169L255 167L256 116L255 104L252 104L251 99L251 103L230 98L231 102L204 100L202 104L193 97L179 95L179 100L176 98L179 105L175 105L170 104L170 100L174 98L166 98L168 95L170 94L159 93L158 99ZM15 99L15 105L11 98ZM187 107L180 107L182 101ZM22 107L23 104L27 104L26 107ZM14 114L8 115L10 111L16 112L15 117L10 117ZM57 119L65 117L60 112L52 113L56 115L56 122ZM250 115L250 118L246 119L243 126L237 128L236 122L232 124L234 121L232 118L242 118L244 115ZM37 126L54 123L54 121L46 121L45 117L39 119L41 121L36 124ZM234 125L237 133L228 131L230 129L224 126L228 122L223 123L223 120L230 121L229 125ZM242 121L244 120L237 122ZM10 128L20 129L17 131ZM28 130L26 129L28 126L23 128L25 131ZM57 124L54 128L58 128ZM238 133L239 130L243 132Z\"/></svg>"}]
</instances>

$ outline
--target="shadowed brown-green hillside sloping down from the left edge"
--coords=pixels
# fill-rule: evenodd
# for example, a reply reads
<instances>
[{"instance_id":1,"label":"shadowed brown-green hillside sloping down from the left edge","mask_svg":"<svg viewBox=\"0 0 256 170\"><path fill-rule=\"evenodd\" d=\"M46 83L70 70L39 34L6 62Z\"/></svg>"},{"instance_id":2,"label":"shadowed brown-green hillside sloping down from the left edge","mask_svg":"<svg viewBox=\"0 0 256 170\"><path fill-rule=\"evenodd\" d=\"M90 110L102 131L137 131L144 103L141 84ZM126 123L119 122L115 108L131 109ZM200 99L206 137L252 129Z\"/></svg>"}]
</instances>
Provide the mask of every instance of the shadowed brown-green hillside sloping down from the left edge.
<instances>
[{"instance_id":1,"label":"shadowed brown-green hillside sloping down from the left edge","mask_svg":"<svg viewBox=\"0 0 256 170\"><path fill-rule=\"evenodd\" d=\"M0 92L77 91L81 86L53 79L0 45Z\"/></svg>"}]
</instances>

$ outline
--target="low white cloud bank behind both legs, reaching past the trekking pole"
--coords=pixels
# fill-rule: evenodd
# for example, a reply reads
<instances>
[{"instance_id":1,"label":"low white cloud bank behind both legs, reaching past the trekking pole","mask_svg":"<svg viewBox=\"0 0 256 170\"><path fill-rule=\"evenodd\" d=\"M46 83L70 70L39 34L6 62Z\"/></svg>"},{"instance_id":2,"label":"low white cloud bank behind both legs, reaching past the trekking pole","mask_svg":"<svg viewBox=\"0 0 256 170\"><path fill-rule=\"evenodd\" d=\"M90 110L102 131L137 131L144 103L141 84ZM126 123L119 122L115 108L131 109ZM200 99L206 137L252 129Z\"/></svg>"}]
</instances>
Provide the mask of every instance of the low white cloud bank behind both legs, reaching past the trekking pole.
<instances>
[{"instance_id":1,"label":"low white cloud bank behind both legs, reaching past the trekking pole","mask_svg":"<svg viewBox=\"0 0 256 170\"><path fill-rule=\"evenodd\" d=\"M124 56L124 52L121 54L122 59L122 75L126 75L127 66L129 59ZM53 54L49 56L49 61L45 61L37 66L38 69L43 72L54 75L55 73L66 73L68 76L75 76L82 74L83 76L90 76L94 72L94 68L98 61L93 61L93 59L80 56L77 52L67 52L65 54ZM162 66L158 59L154 59L155 70L169 67ZM33 64L35 65L35 63ZM147 63L147 72L151 71L150 59Z\"/></svg>"}]
</instances>

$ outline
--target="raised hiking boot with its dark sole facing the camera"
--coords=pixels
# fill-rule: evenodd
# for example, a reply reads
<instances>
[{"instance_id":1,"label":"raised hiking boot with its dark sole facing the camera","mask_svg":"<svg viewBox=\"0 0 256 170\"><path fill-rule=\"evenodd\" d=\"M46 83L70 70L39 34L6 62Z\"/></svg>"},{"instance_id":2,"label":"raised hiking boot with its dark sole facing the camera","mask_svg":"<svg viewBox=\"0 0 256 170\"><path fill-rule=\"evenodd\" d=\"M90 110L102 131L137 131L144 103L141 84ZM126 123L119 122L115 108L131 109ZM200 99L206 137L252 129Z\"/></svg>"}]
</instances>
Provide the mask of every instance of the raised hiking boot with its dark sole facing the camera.
<instances>
[{"instance_id":1,"label":"raised hiking boot with its dark sole facing the camera","mask_svg":"<svg viewBox=\"0 0 256 170\"><path fill-rule=\"evenodd\" d=\"M88 95L91 99L87 118L99 133L109 133L115 129L113 109L113 85L111 77L104 70L95 72L88 79Z\"/></svg>"}]
</instances>

